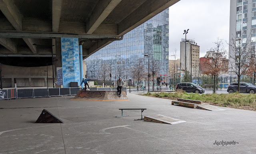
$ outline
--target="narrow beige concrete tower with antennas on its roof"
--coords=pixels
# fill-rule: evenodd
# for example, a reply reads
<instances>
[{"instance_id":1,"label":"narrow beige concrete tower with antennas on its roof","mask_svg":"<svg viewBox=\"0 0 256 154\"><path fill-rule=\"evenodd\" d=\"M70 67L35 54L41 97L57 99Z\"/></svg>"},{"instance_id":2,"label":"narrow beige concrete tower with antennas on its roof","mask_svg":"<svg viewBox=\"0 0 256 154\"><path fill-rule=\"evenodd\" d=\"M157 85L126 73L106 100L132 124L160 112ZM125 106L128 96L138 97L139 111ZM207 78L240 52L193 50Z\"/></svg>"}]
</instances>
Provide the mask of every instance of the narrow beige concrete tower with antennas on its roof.
<instances>
[{"instance_id":1,"label":"narrow beige concrete tower with antennas on its roof","mask_svg":"<svg viewBox=\"0 0 256 154\"><path fill-rule=\"evenodd\" d=\"M192 78L198 77L199 55L200 55L200 46L197 45L197 43L195 43L193 39L186 39L186 51L185 51L185 39L182 39L182 41L180 42L181 69L184 72L185 71L189 72L189 74L192 71ZM186 61L186 66L185 66L185 61Z\"/></svg>"}]
</instances>

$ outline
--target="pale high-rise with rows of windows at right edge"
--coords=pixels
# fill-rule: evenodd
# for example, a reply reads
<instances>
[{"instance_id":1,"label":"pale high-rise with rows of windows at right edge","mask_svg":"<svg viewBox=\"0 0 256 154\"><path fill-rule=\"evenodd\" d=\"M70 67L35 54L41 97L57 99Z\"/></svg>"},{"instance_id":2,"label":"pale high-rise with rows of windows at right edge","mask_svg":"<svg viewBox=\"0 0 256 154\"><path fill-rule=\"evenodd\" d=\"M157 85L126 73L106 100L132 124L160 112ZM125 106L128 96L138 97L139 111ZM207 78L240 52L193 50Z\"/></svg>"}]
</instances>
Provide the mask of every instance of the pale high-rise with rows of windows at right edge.
<instances>
[{"instance_id":1,"label":"pale high-rise with rows of windows at right edge","mask_svg":"<svg viewBox=\"0 0 256 154\"><path fill-rule=\"evenodd\" d=\"M234 60L234 40L236 47L250 45L247 49L255 51L256 42L256 0L230 0L229 30L229 71ZM248 40L246 40L248 39ZM239 40L241 43L239 43ZM246 49L246 48L245 48ZM232 55L232 58L230 57Z\"/></svg>"}]
</instances>

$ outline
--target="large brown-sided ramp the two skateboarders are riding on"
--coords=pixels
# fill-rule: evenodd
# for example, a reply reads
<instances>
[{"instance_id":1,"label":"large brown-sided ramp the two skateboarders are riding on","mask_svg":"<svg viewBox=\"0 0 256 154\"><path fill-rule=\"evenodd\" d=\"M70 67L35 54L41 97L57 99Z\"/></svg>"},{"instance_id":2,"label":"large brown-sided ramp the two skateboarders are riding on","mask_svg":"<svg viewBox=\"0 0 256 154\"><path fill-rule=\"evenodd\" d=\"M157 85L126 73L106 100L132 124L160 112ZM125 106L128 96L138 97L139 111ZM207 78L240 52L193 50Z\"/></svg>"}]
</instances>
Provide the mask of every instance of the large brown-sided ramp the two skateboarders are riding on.
<instances>
[{"instance_id":1,"label":"large brown-sided ramp the two skateboarders are riding on","mask_svg":"<svg viewBox=\"0 0 256 154\"><path fill-rule=\"evenodd\" d=\"M125 91L118 97L116 91L78 91L76 96L71 100L78 101L129 101Z\"/></svg>"}]
</instances>

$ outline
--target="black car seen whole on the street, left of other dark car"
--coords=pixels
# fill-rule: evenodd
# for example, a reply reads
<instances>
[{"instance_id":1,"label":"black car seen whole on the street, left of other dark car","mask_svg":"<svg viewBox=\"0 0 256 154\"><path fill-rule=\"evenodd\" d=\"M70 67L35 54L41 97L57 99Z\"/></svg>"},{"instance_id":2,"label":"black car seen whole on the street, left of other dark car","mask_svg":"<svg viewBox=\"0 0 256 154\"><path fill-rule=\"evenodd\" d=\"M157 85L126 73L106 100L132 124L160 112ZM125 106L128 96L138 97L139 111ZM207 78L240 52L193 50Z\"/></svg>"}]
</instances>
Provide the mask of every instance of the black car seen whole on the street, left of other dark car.
<instances>
[{"instance_id":1,"label":"black car seen whole on the street, left of other dark car","mask_svg":"<svg viewBox=\"0 0 256 154\"><path fill-rule=\"evenodd\" d=\"M204 93L204 89L194 83L178 83L176 86L177 89L183 89L187 93Z\"/></svg>"}]
</instances>

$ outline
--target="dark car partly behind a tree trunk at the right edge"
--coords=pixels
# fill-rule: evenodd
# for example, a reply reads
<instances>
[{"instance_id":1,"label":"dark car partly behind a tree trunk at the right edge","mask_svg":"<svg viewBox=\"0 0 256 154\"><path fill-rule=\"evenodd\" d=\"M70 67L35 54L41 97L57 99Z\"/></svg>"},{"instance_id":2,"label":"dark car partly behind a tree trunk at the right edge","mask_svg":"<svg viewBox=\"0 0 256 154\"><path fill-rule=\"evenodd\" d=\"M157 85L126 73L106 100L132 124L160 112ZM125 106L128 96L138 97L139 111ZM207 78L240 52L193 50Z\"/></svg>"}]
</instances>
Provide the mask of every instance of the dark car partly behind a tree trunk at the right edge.
<instances>
[{"instance_id":1,"label":"dark car partly behind a tree trunk at the right edge","mask_svg":"<svg viewBox=\"0 0 256 154\"><path fill-rule=\"evenodd\" d=\"M228 86L228 93L238 91L238 82L230 83ZM248 82L240 82L240 93L256 93L256 86Z\"/></svg>"}]
</instances>

